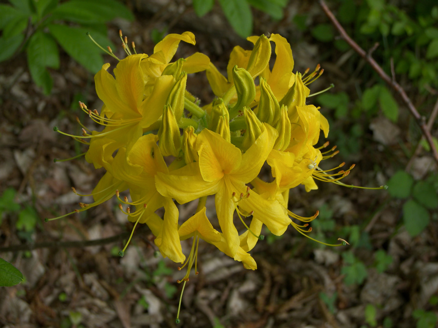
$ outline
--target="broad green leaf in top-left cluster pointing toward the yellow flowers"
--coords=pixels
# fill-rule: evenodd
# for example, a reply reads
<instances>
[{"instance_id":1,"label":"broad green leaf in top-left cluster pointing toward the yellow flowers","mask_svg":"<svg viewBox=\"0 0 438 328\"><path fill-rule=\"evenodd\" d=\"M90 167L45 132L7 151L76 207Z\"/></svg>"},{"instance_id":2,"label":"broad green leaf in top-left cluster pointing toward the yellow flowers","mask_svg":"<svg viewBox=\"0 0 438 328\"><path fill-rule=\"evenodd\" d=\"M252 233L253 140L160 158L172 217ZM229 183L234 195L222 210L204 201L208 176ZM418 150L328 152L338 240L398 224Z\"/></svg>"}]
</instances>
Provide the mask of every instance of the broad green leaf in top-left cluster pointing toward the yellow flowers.
<instances>
[{"instance_id":1,"label":"broad green leaf in top-left cluster pointing toward the yellow flowers","mask_svg":"<svg viewBox=\"0 0 438 328\"><path fill-rule=\"evenodd\" d=\"M102 51L90 44L87 29L55 24L48 25L48 28L61 47L79 64L93 74L102 69L103 60L100 55ZM105 41L103 41L106 40L105 36L93 32L92 37L105 47Z\"/></svg>"}]
</instances>

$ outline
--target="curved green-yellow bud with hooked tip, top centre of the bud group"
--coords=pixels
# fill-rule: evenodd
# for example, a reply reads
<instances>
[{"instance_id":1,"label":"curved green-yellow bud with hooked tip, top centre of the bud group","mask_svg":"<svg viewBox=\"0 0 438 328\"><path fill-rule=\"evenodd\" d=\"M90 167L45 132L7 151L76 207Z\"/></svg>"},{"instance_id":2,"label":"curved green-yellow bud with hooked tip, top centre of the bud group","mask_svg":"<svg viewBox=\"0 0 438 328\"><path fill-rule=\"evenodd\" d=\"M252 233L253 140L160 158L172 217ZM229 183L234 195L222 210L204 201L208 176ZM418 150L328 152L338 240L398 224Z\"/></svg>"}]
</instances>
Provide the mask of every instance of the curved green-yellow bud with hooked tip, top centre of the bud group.
<instances>
[{"instance_id":1,"label":"curved green-yellow bud with hooked tip, top centre of the bud group","mask_svg":"<svg viewBox=\"0 0 438 328\"><path fill-rule=\"evenodd\" d=\"M237 116L244 106L248 106L256 98L256 86L251 74L246 69L233 68L234 85L236 86L237 102L230 109L230 118Z\"/></svg>"}]
</instances>

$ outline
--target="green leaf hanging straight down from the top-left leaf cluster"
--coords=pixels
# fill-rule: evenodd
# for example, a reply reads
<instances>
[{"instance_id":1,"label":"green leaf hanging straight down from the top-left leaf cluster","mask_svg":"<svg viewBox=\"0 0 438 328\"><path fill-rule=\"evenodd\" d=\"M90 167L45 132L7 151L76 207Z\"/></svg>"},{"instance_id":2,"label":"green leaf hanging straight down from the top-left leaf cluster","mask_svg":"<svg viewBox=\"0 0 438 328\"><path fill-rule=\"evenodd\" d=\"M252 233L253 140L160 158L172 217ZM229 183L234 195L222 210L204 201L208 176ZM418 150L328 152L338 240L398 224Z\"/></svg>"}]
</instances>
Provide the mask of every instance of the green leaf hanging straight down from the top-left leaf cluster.
<instances>
[{"instance_id":1,"label":"green leaf hanging straight down from the top-left leaf cluster","mask_svg":"<svg viewBox=\"0 0 438 328\"><path fill-rule=\"evenodd\" d=\"M51 35L42 31L32 35L27 46L27 64L37 86L41 86L45 94L50 94L53 80L46 67L59 68L58 46Z\"/></svg>"}]
</instances>

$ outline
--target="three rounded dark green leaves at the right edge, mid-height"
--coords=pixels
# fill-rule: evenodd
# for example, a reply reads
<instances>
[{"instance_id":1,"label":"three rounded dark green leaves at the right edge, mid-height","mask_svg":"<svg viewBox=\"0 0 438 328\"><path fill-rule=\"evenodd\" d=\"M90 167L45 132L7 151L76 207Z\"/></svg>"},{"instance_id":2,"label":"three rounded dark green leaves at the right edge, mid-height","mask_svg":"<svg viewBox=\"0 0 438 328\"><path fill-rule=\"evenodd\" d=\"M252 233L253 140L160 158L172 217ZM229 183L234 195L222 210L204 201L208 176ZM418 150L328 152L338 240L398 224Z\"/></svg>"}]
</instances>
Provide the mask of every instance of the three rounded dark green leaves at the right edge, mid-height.
<instances>
[{"instance_id":1,"label":"three rounded dark green leaves at the right edge, mid-height","mask_svg":"<svg viewBox=\"0 0 438 328\"><path fill-rule=\"evenodd\" d=\"M429 210L438 207L437 187L434 175L424 181L414 181L409 173L396 172L388 181L391 196L406 199L403 204L403 223L408 233L419 235L430 222Z\"/></svg>"}]
</instances>

